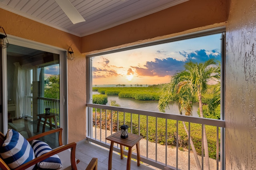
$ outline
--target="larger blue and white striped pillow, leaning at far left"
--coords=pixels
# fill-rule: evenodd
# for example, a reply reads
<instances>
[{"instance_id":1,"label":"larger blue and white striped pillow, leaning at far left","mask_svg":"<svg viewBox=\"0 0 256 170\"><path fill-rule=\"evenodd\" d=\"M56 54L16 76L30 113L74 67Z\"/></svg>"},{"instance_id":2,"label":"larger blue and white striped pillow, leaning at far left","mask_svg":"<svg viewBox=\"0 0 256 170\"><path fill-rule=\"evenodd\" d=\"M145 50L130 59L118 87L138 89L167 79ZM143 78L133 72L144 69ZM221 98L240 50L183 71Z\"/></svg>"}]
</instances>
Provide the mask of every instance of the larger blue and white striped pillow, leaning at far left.
<instances>
[{"instance_id":1,"label":"larger blue and white striped pillow, leaning at far left","mask_svg":"<svg viewBox=\"0 0 256 170\"><path fill-rule=\"evenodd\" d=\"M35 158L34 151L28 140L13 129L8 129L5 140L0 148L0 154L4 162L11 169L17 168ZM35 168L37 168L36 165L31 166L28 170Z\"/></svg>"}]
</instances>

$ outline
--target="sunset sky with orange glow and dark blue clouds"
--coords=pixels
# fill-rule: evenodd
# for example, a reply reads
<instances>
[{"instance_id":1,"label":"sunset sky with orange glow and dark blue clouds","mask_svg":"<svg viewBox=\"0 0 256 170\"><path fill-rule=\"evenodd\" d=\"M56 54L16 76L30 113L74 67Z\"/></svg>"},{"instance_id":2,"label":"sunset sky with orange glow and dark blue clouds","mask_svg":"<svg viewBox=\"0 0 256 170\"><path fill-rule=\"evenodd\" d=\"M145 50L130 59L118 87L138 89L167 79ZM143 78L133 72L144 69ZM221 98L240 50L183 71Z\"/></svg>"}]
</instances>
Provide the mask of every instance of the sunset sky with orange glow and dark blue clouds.
<instances>
[{"instance_id":1,"label":"sunset sky with orange glow and dark blue clouds","mask_svg":"<svg viewBox=\"0 0 256 170\"><path fill-rule=\"evenodd\" d=\"M189 60L221 60L221 34L100 55L92 59L92 85L169 83Z\"/></svg>"}]
</instances>

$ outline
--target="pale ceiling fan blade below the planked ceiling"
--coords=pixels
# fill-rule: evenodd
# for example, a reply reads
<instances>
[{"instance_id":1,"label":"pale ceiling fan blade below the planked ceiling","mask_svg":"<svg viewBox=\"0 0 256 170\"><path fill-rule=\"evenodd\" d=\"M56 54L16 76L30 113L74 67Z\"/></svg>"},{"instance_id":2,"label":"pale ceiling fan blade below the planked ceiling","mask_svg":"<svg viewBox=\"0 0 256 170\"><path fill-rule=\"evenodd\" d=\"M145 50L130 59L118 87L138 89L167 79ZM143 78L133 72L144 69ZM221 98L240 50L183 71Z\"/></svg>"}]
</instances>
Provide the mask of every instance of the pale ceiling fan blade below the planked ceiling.
<instances>
[{"instance_id":1,"label":"pale ceiling fan blade below the planked ceiling","mask_svg":"<svg viewBox=\"0 0 256 170\"><path fill-rule=\"evenodd\" d=\"M84 18L76 10L76 8L71 4L69 0L55 0L60 8L65 12L68 18L73 24L84 22Z\"/></svg>"}]
</instances>

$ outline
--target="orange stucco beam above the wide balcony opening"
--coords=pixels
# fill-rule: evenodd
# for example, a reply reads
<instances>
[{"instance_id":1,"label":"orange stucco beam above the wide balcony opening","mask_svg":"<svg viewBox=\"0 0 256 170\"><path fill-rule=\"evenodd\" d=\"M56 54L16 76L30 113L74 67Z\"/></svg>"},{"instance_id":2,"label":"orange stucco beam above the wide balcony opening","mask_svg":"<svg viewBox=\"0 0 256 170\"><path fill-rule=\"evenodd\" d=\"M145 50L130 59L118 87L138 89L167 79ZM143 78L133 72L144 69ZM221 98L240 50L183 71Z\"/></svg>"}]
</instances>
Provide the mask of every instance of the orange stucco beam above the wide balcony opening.
<instances>
[{"instance_id":1,"label":"orange stucco beam above the wide balcony opening","mask_svg":"<svg viewBox=\"0 0 256 170\"><path fill-rule=\"evenodd\" d=\"M97 51L226 22L227 6L227 0L189 0L120 26L84 36L82 52Z\"/></svg>"}]
</instances>

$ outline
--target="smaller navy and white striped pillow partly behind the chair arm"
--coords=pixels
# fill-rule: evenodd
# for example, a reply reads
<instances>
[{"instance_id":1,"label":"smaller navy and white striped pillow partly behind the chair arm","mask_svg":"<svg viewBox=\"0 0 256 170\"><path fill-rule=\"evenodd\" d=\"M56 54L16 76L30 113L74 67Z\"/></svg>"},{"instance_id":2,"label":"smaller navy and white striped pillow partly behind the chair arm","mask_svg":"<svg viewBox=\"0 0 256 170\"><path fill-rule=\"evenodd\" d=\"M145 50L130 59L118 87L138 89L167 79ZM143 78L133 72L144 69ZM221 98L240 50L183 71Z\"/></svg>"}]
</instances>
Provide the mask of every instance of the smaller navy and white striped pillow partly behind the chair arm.
<instances>
[{"instance_id":1,"label":"smaller navy and white striped pillow partly behind the chair arm","mask_svg":"<svg viewBox=\"0 0 256 170\"><path fill-rule=\"evenodd\" d=\"M48 144L40 140L33 140L32 147L36 157L52 151L52 148L50 148ZM58 169L62 167L62 164L60 162L60 157L57 154L55 154L39 162L38 167L42 169Z\"/></svg>"}]
</instances>

